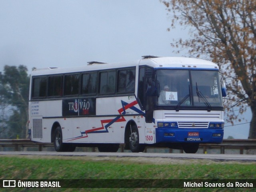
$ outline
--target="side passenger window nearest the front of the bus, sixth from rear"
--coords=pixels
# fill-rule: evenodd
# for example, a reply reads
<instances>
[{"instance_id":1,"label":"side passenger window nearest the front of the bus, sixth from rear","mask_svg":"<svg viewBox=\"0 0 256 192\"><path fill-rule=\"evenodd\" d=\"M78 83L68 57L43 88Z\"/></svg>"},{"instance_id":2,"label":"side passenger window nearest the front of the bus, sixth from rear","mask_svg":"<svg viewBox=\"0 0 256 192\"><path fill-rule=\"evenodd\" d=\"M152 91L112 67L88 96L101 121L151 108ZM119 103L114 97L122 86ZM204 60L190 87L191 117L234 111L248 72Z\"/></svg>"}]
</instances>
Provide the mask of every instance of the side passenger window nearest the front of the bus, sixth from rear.
<instances>
[{"instance_id":1,"label":"side passenger window nearest the front of the bus, sixth from rear","mask_svg":"<svg viewBox=\"0 0 256 192\"><path fill-rule=\"evenodd\" d=\"M135 69L118 71L117 92L134 92L135 90Z\"/></svg>"}]
</instances>

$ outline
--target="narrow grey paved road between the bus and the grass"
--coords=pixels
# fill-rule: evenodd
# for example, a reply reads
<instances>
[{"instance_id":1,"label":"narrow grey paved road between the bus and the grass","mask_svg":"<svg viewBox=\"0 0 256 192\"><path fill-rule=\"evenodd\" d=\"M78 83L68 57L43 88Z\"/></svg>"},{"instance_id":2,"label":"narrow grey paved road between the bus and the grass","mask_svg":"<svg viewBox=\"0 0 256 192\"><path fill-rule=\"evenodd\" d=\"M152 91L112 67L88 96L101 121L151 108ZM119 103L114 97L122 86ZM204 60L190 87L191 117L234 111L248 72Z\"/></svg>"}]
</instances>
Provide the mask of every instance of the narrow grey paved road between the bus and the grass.
<instances>
[{"instance_id":1,"label":"narrow grey paved road between the bus and the grass","mask_svg":"<svg viewBox=\"0 0 256 192\"><path fill-rule=\"evenodd\" d=\"M176 159L208 159L219 161L255 161L256 155L236 154L182 154L182 153L104 153L104 152L4 152L0 155L50 155L50 156L95 156L95 157L149 157L149 158L176 158Z\"/></svg>"}]
</instances>

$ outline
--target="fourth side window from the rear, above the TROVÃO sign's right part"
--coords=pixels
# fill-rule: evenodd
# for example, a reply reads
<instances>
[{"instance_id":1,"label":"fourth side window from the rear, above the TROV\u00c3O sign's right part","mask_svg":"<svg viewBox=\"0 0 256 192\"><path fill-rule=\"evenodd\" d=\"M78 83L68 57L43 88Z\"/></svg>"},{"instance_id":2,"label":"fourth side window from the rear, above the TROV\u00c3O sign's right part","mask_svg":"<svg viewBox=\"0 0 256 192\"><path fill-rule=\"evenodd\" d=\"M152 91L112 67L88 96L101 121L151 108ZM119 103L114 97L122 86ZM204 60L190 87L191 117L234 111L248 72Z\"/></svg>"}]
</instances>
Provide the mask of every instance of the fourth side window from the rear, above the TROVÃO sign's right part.
<instances>
[{"instance_id":1,"label":"fourth side window from the rear, above the TROV\u00c3O sign's right part","mask_svg":"<svg viewBox=\"0 0 256 192\"><path fill-rule=\"evenodd\" d=\"M82 74L82 94L96 94L98 74L86 73Z\"/></svg>"}]
</instances>

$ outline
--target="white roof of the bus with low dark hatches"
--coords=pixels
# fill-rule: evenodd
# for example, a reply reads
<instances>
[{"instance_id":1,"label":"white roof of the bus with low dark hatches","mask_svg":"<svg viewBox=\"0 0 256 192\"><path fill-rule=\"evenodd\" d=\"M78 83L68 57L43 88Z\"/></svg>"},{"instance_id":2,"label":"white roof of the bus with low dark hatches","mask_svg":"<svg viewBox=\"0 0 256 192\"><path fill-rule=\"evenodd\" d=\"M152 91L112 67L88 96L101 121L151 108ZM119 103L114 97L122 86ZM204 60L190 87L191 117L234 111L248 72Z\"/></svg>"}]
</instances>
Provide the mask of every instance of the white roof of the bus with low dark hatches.
<instances>
[{"instance_id":1,"label":"white roof of the bus with low dark hatches","mask_svg":"<svg viewBox=\"0 0 256 192\"><path fill-rule=\"evenodd\" d=\"M154 68L200 68L218 69L218 65L208 60L186 57L157 57L143 56L140 60L130 62L88 62L88 65L68 68L42 68L32 71L32 75L62 74L70 72L83 72L93 70L115 69L129 66L148 65Z\"/></svg>"}]
</instances>

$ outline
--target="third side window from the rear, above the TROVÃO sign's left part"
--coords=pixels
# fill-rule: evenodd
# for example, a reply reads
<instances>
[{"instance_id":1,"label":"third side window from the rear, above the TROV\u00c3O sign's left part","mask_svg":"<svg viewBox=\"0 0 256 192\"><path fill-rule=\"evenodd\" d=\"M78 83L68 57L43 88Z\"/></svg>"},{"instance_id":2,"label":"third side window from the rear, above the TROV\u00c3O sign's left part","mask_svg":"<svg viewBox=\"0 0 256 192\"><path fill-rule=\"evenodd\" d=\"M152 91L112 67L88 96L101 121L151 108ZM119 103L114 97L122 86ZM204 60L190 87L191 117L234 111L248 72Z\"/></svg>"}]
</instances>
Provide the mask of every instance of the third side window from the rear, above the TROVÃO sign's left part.
<instances>
[{"instance_id":1,"label":"third side window from the rear, above the TROV\u00c3O sign's left part","mask_svg":"<svg viewBox=\"0 0 256 192\"><path fill-rule=\"evenodd\" d=\"M65 75L64 95L78 95L79 74Z\"/></svg>"}]
</instances>

